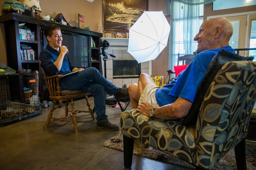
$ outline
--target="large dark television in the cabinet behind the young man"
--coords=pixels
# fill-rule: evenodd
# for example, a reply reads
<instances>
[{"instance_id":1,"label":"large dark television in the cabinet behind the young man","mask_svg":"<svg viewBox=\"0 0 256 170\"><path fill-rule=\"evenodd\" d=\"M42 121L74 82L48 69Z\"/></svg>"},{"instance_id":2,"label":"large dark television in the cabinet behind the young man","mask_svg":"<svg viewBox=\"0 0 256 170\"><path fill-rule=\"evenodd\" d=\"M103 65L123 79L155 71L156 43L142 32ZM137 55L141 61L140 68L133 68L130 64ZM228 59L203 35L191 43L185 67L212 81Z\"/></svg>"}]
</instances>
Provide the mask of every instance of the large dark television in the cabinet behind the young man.
<instances>
[{"instance_id":1,"label":"large dark television in the cabinet behind the young man","mask_svg":"<svg viewBox=\"0 0 256 170\"><path fill-rule=\"evenodd\" d=\"M70 61L77 68L89 67L89 46L88 37L76 33L70 33L61 31L62 33L62 45L68 46L68 56ZM46 48L48 41L44 36L44 29L41 30L42 37L42 49Z\"/></svg>"}]
</instances>

